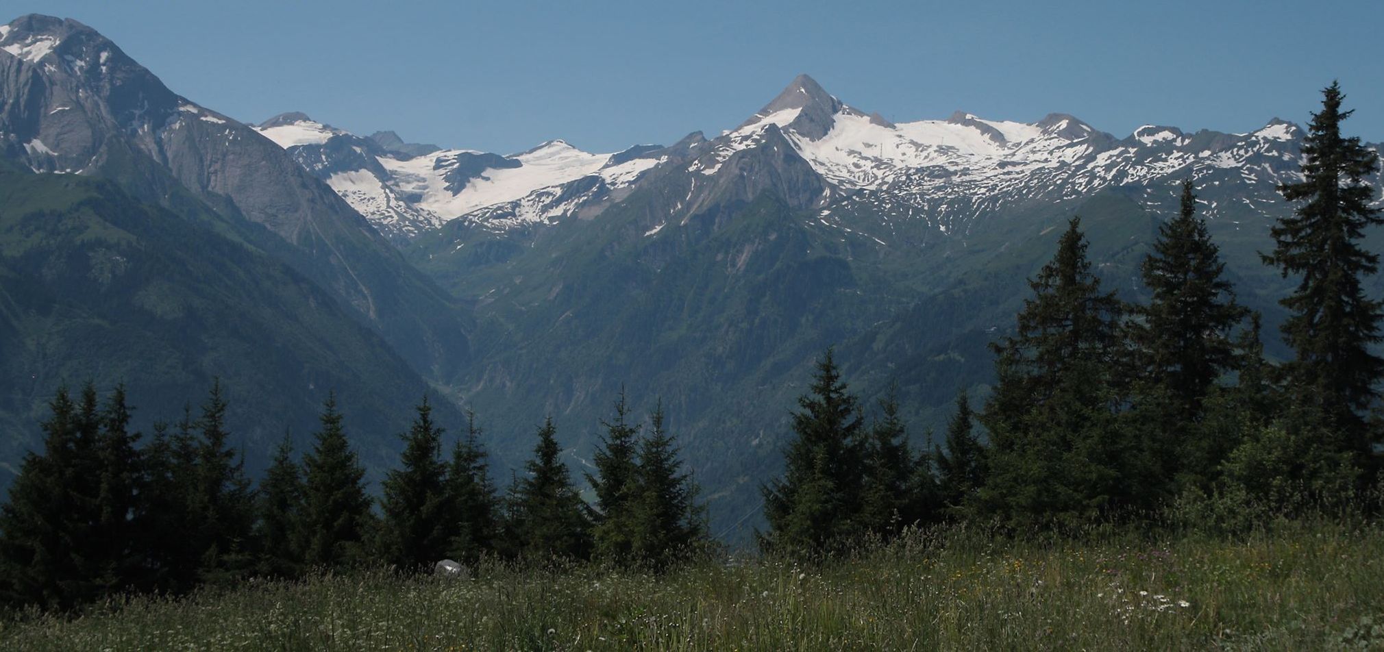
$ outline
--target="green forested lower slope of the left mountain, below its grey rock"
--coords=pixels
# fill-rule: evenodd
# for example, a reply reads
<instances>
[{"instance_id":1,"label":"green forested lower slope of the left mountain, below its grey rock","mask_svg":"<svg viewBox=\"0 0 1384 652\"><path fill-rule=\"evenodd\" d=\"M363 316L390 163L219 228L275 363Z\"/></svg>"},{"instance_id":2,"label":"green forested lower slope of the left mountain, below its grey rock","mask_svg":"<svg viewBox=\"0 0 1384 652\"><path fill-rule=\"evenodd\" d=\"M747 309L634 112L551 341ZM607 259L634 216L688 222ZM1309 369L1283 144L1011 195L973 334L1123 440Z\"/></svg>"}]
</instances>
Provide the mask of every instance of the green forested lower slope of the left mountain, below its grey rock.
<instances>
[{"instance_id":1,"label":"green forested lower slope of the left mountain, below its grey rock","mask_svg":"<svg viewBox=\"0 0 1384 652\"><path fill-rule=\"evenodd\" d=\"M371 475L393 465L428 383L314 282L188 217L111 181L0 169L0 485L54 388L87 379L126 383L148 432L219 375L251 469L285 429L306 444L335 389Z\"/></svg>"}]
</instances>

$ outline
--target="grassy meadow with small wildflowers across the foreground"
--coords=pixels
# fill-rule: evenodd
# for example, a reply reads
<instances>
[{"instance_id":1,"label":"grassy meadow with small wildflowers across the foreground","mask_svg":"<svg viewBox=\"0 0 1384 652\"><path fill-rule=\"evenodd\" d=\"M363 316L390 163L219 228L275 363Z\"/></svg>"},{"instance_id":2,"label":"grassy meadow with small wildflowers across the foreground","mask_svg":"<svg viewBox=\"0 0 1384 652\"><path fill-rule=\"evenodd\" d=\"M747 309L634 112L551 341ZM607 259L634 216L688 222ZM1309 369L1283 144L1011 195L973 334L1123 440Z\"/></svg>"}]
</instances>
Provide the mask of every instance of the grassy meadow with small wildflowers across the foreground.
<instances>
[{"instance_id":1,"label":"grassy meadow with small wildflowers across the foreground","mask_svg":"<svg viewBox=\"0 0 1384 652\"><path fill-rule=\"evenodd\" d=\"M1384 649L1381 534L1324 520L1030 541L952 527L811 568L321 574L11 619L0 648Z\"/></svg>"}]
</instances>

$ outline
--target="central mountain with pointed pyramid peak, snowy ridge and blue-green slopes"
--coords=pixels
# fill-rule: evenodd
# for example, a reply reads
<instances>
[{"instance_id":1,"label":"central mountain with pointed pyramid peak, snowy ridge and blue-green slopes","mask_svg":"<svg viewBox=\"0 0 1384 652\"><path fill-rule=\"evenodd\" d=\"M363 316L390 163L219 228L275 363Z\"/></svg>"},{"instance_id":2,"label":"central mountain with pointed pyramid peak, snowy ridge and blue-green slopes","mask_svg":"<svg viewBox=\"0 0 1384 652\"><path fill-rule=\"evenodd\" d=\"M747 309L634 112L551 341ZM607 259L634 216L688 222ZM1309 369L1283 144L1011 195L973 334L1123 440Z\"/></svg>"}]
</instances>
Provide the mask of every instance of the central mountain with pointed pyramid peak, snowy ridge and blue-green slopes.
<instances>
[{"instance_id":1,"label":"central mountain with pointed pyramid peak, snowy ridge and blue-green slopes","mask_svg":"<svg viewBox=\"0 0 1384 652\"><path fill-rule=\"evenodd\" d=\"M912 158L880 159L850 140L879 151L889 134L912 143L895 143ZM1282 122L1254 134L1142 129L1125 140L1064 115L893 125L800 78L595 215L507 228L473 215L410 251L500 325L455 383L497 415L500 432L554 414L580 458L621 385L641 408L662 397L711 500L713 532L743 540L826 346L871 407L897 381L923 443L956 390L988 392L985 345L1013 328L1024 280L1052 256L1066 220L1084 217L1106 285L1139 299L1139 264L1189 174L1228 274L1265 313L1269 352L1283 354L1276 300L1290 281L1258 252L1290 209L1276 183L1298 179L1300 138ZM494 444L515 458L525 442Z\"/></svg>"}]
</instances>

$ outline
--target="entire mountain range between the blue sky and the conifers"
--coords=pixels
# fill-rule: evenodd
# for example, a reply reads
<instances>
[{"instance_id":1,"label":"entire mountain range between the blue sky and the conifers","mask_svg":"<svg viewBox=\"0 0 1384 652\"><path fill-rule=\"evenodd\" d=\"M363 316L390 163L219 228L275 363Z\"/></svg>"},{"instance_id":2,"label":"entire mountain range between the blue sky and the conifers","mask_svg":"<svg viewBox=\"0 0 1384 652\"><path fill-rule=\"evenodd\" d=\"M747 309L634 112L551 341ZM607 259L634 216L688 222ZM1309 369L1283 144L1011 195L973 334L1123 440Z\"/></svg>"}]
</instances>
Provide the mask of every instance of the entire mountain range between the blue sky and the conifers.
<instances>
[{"instance_id":1,"label":"entire mountain range between the blue sky and the conifers","mask_svg":"<svg viewBox=\"0 0 1384 652\"><path fill-rule=\"evenodd\" d=\"M494 154L303 114L244 125L84 25L24 17L0 26L0 192L26 198L0 206L0 346L21 352L4 356L0 418L24 433L0 462L35 442L44 393L83 374L176 401L224 375L278 401L239 415L262 453L285 425L306 435L281 415L310 418L336 388L370 401L357 443L381 468L425 390L448 418L477 410L501 468L545 415L584 464L624 390L638 410L663 403L713 532L743 538L825 347L868 400L897 385L925 444L959 389L985 393L985 343L1073 215L1106 284L1138 299L1139 262L1192 177L1272 334L1291 280L1258 252L1290 210L1276 185L1301 177L1302 137L1279 119L1127 137L1066 114L894 123L803 75L710 138Z\"/></svg>"}]
</instances>

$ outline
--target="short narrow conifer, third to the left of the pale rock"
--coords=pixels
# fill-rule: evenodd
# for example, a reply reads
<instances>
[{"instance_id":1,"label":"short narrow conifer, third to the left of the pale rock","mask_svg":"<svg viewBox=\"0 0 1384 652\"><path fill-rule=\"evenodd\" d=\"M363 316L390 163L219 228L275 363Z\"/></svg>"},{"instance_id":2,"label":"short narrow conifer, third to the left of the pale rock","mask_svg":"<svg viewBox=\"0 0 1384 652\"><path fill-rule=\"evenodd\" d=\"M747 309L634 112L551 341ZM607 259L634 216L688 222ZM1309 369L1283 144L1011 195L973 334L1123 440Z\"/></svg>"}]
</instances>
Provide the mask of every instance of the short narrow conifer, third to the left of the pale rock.
<instances>
[{"instance_id":1,"label":"short narrow conifer, third to the left of the pale rock","mask_svg":"<svg viewBox=\"0 0 1384 652\"><path fill-rule=\"evenodd\" d=\"M256 573L268 577L298 577L303 573L302 520L303 475L293 461L293 439L285 433L259 486Z\"/></svg>"}]
</instances>

